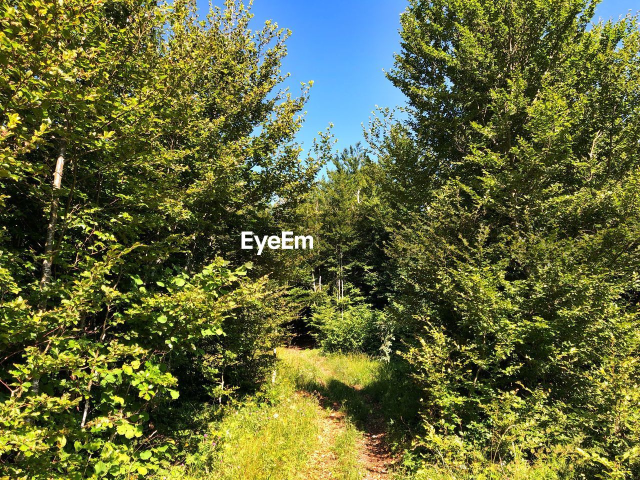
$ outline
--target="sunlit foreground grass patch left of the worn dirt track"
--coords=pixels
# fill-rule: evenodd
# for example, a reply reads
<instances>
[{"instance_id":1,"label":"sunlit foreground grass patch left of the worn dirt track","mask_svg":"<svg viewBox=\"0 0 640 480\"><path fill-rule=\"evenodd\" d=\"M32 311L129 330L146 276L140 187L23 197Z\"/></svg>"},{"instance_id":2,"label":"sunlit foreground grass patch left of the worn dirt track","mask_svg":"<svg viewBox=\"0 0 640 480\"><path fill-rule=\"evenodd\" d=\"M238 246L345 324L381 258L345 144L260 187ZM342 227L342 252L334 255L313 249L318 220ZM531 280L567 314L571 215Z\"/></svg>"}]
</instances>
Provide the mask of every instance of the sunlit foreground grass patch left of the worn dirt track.
<instances>
[{"instance_id":1,"label":"sunlit foreground grass patch left of the worn dirt track","mask_svg":"<svg viewBox=\"0 0 640 480\"><path fill-rule=\"evenodd\" d=\"M209 426L198 452L173 478L207 480L298 479L319 440L315 399L280 381Z\"/></svg>"}]
</instances>

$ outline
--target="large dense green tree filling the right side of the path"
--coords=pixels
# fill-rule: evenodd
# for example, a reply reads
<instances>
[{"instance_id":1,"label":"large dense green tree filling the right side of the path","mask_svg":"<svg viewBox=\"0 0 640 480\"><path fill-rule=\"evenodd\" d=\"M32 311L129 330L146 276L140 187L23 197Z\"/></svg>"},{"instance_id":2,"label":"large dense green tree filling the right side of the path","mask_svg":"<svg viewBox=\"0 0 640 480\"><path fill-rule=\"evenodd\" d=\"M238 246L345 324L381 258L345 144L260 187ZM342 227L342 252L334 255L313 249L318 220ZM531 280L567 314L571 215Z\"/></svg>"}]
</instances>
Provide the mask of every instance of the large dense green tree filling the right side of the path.
<instances>
[{"instance_id":1,"label":"large dense green tree filling the right side of the path","mask_svg":"<svg viewBox=\"0 0 640 480\"><path fill-rule=\"evenodd\" d=\"M579 444L589 475L640 471L640 32L590 25L594 8L413 0L401 17L408 120L371 138L405 205L387 252L422 445L451 461Z\"/></svg>"}]
</instances>

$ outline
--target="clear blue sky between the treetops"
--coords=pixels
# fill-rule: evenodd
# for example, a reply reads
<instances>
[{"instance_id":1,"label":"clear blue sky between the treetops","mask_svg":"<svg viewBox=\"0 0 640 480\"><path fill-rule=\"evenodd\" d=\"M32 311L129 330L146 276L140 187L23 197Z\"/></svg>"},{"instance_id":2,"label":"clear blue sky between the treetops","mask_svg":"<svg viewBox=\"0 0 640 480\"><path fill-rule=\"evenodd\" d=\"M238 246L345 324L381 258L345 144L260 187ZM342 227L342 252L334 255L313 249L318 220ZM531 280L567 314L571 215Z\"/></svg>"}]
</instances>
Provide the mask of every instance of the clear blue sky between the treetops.
<instances>
[{"instance_id":1,"label":"clear blue sky between the treetops","mask_svg":"<svg viewBox=\"0 0 640 480\"><path fill-rule=\"evenodd\" d=\"M247 0L248 1L248 0ZM215 4L221 1L214 1ZM198 0L200 8L208 2ZM298 140L309 148L332 122L338 148L362 140L362 126L378 106L403 104L404 97L383 74L399 50L399 15L404 0L254 0L254 28L271 19L289 28L289 55L283 72L297 92L314 81ZM596 18L618 18L640 9L638 0L603 0Z\"/></svg>"}]
</instances>

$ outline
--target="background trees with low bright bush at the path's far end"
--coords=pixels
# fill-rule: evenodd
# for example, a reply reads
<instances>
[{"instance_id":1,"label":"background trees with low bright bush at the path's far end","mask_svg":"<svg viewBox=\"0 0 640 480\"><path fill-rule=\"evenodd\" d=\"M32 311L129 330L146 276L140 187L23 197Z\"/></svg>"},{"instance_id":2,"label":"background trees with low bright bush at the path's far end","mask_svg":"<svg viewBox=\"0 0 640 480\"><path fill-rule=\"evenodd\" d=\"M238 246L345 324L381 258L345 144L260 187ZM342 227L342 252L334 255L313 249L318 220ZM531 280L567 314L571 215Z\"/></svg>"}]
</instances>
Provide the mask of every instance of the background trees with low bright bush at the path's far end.
<instances>
[{"instance_id":1,"label":"background trees with low bright bush at the path's far end","mask_svg":"<svg viewBox=\"0 0 640 480\"><path fill-rule=\"evenodd\" d=\"M314 250L300 252L297 275L289 278L296 285L291 303L303 320L296 328L310 327L321 345L331 344L329 349L343 344L343 349L376 353L380 314L371 308L385 305L388 293L378 165L359 143L328 156L333 168L305 195L288 227L312 234L315 241Z\"/></svg>"}]
</instances>

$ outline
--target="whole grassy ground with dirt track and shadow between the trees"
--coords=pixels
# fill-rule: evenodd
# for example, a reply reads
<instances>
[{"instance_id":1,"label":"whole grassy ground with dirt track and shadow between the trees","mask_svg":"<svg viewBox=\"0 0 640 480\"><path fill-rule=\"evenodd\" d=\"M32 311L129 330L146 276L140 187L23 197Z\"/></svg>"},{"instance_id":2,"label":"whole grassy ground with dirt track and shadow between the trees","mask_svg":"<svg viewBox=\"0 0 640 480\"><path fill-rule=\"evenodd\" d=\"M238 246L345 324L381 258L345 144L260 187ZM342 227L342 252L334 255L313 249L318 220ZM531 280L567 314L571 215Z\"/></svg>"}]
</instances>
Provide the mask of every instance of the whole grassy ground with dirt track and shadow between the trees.
<instances>
[{"instance_id":1,"label":"whole grassy ground with dirt track and shadow between the trees","mask_svg":"<svg viewBox=\"0 0 640 480\"><path fill-rule=\"evenodd\" d=\"M385 362L315 349L278 349L277 355L270 390L210 424L198 453L172 478L402 478L394 472L399 456L385 421L383 403L393 388Z\"/></svg>"}]
</instances>

